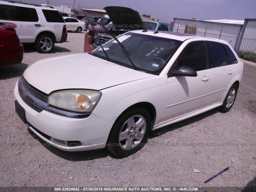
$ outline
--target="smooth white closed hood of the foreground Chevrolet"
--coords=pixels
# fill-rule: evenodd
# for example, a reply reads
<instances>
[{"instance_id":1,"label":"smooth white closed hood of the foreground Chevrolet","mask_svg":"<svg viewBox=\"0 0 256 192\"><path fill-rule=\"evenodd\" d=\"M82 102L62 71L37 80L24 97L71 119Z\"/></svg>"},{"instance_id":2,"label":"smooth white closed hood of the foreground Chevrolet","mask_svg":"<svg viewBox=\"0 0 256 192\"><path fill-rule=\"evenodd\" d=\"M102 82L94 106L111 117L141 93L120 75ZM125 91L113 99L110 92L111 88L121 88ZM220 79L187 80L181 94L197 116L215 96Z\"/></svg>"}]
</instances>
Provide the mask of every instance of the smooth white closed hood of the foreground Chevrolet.
<instances>
[{"instance_id":1,"label":"smooth white closed hood of the foreground Chevrolet","mask_svg":"<svg viewBox=\"0 0 256 192\"><path fill-rule=\"evenodd\" d=\"M154 75L80 53L39 60L23 76L29 84L50 94L62 89L101 90Z\"/></svg>"}]
</instances>

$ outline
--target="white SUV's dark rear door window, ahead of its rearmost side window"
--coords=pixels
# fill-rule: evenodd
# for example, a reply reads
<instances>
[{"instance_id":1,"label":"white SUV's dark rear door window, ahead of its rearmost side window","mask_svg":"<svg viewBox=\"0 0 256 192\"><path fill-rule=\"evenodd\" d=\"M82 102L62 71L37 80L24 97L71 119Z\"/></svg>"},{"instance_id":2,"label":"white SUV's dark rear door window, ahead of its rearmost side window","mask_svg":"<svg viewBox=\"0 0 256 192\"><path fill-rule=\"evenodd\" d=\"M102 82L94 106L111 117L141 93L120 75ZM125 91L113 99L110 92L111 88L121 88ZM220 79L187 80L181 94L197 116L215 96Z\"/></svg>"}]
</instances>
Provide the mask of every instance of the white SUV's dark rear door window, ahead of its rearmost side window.
<instances>
[{"instance_id":1,"label":"white SUV's dark rear door window, ahead of its rearmost side window","mask_svg":"<svg viewBox=\"0 0 256 192\"><path fill-rule=\"evenodd\" d=\"M28 7L14 6L14 21L38 22L38 15L35 9Z\"/></svg>"}]
</instances>

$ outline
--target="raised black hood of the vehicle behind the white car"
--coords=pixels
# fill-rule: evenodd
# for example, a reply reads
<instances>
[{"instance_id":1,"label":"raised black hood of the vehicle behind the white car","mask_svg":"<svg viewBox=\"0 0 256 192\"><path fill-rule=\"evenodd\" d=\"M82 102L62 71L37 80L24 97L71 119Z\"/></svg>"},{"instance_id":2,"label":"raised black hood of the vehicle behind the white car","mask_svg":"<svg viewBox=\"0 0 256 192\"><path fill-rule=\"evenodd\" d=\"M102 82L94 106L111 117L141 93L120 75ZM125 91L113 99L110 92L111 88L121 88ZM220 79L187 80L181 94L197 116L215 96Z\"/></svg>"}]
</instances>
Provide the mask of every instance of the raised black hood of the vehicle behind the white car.
<instances>
[{"instance_id":1,"label":"raised black hood of the vehicle behind the white car","mask_svg":"<svg viewBox=\"0 0 256 192\"><path fill-rule=\"evenodd\" d=\"M112 20L114 27L117 30L143 30L143 22L140 14L127 7L110 6L105 7L104 10Z\"/></svg>"}]
</instances>

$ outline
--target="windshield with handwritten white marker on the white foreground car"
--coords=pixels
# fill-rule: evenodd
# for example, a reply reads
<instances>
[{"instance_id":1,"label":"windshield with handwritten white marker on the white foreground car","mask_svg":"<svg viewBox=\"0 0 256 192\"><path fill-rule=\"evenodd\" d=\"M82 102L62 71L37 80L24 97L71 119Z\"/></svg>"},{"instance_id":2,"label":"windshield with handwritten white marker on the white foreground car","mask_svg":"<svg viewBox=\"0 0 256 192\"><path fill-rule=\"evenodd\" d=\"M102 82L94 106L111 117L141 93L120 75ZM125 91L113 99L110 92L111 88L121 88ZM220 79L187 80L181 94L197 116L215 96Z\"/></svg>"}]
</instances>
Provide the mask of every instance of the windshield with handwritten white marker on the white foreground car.
<instances>
[{"instance_id":1,"label":"windshield with handwritten white marker on the white foreground car","mask_svg":"<svg viewBox=\"0 0 256 192\"><path fill-rule=\"evenodd\" d=\"M118 40L127 50L130 60L138 70L150 74L159 74L170 57L182 44L178 40L132 32L119 36ZM111 62L133 68L116 40L110 40L102 47ZM96 49L92 52L92 55L107 60L102 48Z\"/></svg>"}]
</instances>

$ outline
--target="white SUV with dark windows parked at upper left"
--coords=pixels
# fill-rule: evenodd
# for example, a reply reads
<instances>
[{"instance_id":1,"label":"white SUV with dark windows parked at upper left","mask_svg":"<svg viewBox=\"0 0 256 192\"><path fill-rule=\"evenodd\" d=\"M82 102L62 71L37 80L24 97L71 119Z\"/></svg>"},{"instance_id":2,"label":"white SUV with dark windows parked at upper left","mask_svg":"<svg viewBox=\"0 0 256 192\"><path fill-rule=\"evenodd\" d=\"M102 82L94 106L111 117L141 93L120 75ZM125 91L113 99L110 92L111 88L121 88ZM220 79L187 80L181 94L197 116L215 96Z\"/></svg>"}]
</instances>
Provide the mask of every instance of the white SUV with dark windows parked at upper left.
<instances>
[{"instance_id":1,"label":"white SUV with dark windows parked at upper left","mask_svg":"<svg viewBox=\"0 0 256 192\"><path fill-rule=\"evenodd\" d=\"M62 16L48 6L0 1L0 22L7 21L17 25L16 32L22 44L35 45L41 53L49 53L54 43L67 40Z\"/></svg>"}]
</instances>

